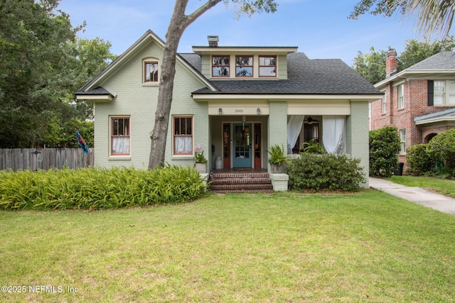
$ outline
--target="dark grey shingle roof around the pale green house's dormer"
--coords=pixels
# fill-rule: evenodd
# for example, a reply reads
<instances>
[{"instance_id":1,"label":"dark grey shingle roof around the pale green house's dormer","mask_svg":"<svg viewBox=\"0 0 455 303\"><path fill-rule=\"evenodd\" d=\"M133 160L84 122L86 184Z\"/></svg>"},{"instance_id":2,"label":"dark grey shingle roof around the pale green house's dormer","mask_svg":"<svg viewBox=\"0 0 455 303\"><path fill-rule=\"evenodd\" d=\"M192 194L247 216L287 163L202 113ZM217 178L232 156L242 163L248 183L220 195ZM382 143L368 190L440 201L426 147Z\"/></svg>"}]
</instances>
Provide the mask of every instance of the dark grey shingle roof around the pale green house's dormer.
<instances>
[{"instance_id":1,"label":"dark grey shingle roof around the pale green house's dormer","mask_svg":"<svg viewBox=\"0 0 455 303\"><path fill-rule=\"evenodd\" d=\"M200 56L183 55L200 68ZM304 53L290 53L287 80L213 80L219 92L198 89L197 94L382 94L339 59L310 60Z\"/></svg>"}]
</instances>

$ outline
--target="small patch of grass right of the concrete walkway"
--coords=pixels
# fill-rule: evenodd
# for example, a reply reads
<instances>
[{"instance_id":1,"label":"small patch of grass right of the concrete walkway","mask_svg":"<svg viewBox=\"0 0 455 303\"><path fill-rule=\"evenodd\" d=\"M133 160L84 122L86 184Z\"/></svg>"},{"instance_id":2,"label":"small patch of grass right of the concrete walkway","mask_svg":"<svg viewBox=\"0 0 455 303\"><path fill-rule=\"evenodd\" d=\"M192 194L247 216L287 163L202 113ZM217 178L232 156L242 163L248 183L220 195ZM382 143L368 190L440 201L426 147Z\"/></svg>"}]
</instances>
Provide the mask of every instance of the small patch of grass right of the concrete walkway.
<instances>
[{"instance_id":1,"label":"small patch of grass right of the concrete walkway","mask_svg":"<svg viewBox=\"0 0 455 303\"><path fill-rule=\"evenodd\" d=\"M410 187L422 187L455 198L455 180L446 180L439 177L413 176L392 176L387 178L387 180Z\"/></svg>"}]
</instances>

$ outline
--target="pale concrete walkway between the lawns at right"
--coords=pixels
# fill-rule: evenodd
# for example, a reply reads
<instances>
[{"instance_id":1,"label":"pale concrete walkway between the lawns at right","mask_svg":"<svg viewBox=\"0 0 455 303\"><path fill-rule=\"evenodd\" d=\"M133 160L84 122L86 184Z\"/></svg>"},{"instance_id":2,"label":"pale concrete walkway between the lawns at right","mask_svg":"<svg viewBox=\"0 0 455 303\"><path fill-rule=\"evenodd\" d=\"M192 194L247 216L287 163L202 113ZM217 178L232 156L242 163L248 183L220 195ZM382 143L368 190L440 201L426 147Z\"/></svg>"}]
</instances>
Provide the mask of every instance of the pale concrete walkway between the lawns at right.
<instances>
[{"instance_id":1,"label":"pale concrete walkway between the lawns at right","mask_svg":"<svg viewBox=\"0 0 455 303\"><path fill-rule=\"evenodd\" d=\"M455 215L455 199L445 197L442 194L435 194L420 187L407 187L380 178L370 177L369 182L370 187L392 194L392 196Z\"/></svg>"}]
</instances>

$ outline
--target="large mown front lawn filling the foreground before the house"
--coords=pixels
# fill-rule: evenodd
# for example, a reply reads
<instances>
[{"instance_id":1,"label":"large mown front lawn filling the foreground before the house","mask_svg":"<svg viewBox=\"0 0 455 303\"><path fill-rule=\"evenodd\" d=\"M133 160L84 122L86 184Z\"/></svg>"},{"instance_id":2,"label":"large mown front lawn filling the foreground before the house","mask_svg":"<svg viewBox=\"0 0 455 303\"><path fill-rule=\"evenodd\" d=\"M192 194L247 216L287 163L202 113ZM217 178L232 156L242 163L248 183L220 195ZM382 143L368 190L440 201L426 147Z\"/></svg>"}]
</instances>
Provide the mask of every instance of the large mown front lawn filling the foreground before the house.
<instances>
[{"instance_id":1,"label":"large mown front lawn filling the foreground before the house","mask_svg":"<svg viewBox=\"0 0 455 303\"><path fill-rule=\"evenodd\" d=\"M455 217L374 190L1 211L0 241L0 302L455 301Z\"/></svg>"}]
</instances>

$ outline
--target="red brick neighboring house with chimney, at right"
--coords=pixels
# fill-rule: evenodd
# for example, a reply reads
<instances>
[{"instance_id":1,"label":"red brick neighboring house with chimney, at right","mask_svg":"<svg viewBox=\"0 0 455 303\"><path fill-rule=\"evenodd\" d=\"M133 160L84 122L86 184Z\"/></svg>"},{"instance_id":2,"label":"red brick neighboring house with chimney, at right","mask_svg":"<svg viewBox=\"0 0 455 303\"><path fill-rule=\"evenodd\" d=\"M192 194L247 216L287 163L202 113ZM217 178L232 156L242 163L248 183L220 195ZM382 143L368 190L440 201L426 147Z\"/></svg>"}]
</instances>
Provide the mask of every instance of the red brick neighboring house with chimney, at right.
<instances>
[{"instance_id":1,"label":"red brick neighboring house with chimney, at right","mask_svg":"<svg viewBox=\"0 0 455 303\"><path fill-rule=\"evenodd\" d=\"M406 163L410 146L455 127L455 52L438 53L397 72L397 53L389 50L386 79L375 87L385 94L370 104L370 129L398 128L400 162Z\"/></svg>"}]
</instances>

